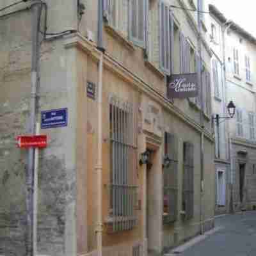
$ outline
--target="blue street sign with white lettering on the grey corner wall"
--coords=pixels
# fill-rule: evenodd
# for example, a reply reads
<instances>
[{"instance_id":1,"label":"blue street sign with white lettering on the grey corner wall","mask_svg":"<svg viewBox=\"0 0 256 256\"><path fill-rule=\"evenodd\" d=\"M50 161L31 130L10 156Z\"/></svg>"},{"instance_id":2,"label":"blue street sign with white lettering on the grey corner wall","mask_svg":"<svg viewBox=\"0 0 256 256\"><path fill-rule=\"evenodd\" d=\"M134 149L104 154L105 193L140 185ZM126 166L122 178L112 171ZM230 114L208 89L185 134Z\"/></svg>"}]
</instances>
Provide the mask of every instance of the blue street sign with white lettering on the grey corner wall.
<instances>
[{"instance_id":1,"label":"blue street sign with white lettering on the grey corner wall","mask_svg":"<svg viewBox=\"0 0 256 256\"><path fill-rule=\"evenodd\" d=\"M41 129L68 125L68 109L51 109L41 112Z\"/></svg>"}]
</instances>

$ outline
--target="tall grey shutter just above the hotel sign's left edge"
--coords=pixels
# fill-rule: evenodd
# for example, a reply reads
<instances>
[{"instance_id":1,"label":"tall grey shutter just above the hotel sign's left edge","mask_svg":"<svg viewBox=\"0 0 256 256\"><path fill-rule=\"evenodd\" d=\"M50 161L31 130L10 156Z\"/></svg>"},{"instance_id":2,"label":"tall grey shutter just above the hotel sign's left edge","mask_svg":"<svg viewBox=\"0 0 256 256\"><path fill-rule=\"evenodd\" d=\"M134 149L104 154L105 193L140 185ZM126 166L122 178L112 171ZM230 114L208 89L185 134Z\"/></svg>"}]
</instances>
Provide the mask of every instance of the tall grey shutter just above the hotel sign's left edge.
<instances>
[{"instance_id":1,"label":"tall grey shutter just above the hotel sign's left edge","mask_svg":"<svg viewBox=\"0 0 256 256\"><path fill-rule=\"evenodd\" d=\"M170 75L170 12L169 6L163 1L159 5L160 28L160 68Z\"/></svg>"}]
</instances>

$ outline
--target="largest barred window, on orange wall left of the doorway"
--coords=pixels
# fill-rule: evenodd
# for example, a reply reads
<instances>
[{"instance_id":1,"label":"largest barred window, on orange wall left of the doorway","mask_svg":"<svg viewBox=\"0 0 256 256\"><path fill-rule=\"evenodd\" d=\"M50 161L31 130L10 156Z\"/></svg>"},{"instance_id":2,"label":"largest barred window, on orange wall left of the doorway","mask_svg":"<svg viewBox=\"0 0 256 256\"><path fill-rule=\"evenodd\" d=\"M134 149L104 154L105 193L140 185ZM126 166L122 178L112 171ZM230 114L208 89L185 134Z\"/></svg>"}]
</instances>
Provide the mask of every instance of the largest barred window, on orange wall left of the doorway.
<instances>
[{"instance_id":1,"label":"largest barred window, on orange wall left of the doorway","mask_svg":"<svg viewBox=\"0 0 256 256\"><path fill-rule=\"evenodd\" d=\"M136 206L136 111L134 106L111 97L110 219L112 232L131 230L137 222Z\"/></svg>"}]
</instances>

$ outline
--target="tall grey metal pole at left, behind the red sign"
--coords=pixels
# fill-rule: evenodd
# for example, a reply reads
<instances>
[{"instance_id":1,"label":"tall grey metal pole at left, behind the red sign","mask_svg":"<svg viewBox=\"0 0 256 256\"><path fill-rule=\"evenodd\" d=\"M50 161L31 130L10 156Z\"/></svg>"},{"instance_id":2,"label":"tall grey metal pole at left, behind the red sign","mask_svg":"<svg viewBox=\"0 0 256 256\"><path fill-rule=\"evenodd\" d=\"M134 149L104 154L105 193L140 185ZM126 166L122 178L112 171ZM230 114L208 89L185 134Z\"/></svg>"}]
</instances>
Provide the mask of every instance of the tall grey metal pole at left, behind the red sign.
<instances>
[{"instance_id":1,"label":"tall grey metal pole at left, behind the red sign","mask_svg":"<svg viewBox=\"0 0 256 256\"><path fill-rule=\"evenodd\" d=\"M38 86L38 60L39 60L39 33L38 26L40 23L40 13L42 10L42 4L36 2L31 5L31 40L32 40L32 60L31 60L31 97L30 97L30 116L28 125L28 134L35 134L36 124L36 88ZM34 256L33 248L33 186L34 186L34 161L35 161L35 150L29 148L28 159L27 159L27 173L26 173L26 210L27 210L27 230L26 230L26 255Z\"/></svg>"}]
</instances>

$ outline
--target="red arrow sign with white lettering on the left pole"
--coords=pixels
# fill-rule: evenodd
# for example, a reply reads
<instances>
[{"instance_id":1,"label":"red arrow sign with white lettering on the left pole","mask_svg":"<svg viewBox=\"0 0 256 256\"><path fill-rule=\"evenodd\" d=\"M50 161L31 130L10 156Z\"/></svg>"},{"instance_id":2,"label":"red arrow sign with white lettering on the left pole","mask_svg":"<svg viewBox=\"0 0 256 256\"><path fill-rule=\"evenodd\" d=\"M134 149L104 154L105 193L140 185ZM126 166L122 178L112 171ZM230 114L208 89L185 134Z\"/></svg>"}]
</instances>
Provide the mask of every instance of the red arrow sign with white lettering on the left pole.
<instances>
[{"instance_id":1,"label":"red arrow sign with white lettering on the left pole","mask_svg":"<svg viewBox=\"0 0 256 256\"><path fill-rule=\"evenodd\" d=\"M46 135L17 136L17 146L19 148L45 148L47 147Z\"/></svg>"}]
</instances>

